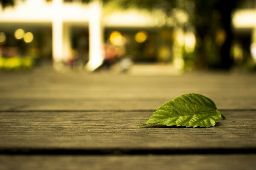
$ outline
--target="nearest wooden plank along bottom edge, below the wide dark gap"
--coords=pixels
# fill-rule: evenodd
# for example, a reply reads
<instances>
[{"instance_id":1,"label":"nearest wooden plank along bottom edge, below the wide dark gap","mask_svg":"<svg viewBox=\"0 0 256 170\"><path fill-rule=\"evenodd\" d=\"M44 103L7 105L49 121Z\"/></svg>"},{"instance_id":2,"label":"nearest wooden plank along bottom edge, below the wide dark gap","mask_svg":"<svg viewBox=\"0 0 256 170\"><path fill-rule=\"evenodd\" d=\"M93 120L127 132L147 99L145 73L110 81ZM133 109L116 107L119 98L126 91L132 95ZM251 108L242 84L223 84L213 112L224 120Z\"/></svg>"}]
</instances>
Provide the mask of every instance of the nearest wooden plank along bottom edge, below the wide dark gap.
<instances>
[{"instance_id":1,"label":"nearest wooden plank along bottom edge, below the wide dark gap","mask_svg":"<svg viewBox=\"0 0 256 170\"><path fill-rule=\"evenodd\" d=\"M255 170L256 155L0 156L0 170Z\"/></svg>"}]
</instances>

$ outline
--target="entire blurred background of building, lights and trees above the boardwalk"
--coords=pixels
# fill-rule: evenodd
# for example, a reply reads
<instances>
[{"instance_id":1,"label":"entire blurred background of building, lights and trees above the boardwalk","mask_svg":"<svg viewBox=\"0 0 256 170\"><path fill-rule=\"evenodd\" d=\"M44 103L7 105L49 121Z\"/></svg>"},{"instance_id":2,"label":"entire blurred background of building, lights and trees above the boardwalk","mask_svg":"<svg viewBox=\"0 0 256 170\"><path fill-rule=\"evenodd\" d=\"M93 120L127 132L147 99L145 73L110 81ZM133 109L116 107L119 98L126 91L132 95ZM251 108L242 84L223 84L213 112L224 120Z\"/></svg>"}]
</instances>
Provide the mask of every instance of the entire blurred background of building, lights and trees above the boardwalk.
<instances>
[{"instance_id":1,"label":"entire blurred background of building, lights and trees above the boardwalk","mask_svg":"<svg viewBox=\"0 0 256 170\"><path fill-rule=\"evenodd\" d=\"M256 0L0 0L0 70L256 70Z\"/></svg>"}]
</instances>

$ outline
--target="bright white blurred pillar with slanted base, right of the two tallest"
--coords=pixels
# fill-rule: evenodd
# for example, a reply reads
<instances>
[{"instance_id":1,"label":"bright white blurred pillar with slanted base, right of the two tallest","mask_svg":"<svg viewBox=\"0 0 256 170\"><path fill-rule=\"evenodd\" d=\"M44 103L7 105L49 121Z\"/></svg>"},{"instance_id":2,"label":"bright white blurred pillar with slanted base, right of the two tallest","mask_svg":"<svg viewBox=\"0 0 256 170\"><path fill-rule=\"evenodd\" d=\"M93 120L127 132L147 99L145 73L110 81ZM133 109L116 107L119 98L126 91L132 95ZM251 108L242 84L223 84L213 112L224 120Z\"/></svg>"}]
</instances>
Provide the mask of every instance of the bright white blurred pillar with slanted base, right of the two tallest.
<instances>
[{"instance_id":1,"label":"bright white blurred pillar with slanted base, right of the two tallest","mask_svg":"<svg viewBox=\"0 0 256 170\"><path fill-rule=\"evenodd\" d=\"M89 62L86 65L88 71L94 71L102 65L104 54L102 48L102 3L94 0L90 4L89 18Z\"/></svg>"}]
</instances>

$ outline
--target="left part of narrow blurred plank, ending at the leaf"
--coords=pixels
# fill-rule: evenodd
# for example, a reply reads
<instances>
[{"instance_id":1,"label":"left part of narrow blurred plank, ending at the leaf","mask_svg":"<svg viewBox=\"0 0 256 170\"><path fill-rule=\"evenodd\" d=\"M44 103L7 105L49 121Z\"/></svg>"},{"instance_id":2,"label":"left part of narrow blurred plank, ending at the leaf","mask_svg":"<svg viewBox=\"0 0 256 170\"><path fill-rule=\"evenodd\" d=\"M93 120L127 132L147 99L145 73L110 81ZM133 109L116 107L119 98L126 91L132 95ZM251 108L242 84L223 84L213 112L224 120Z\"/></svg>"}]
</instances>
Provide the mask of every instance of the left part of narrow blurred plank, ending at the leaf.
<instances>
[{"instance_id":1,"label":"left part of narrow blurred plank, ending at the leaf","mask_svg":"<svg viewBox=\"0 0 256 170\"><path fill-rule=\"evenodd\" d=\"M0 99L0 111L154 111L164 102L150 99Z\"/></svg>"}]
</instances>

